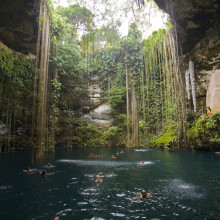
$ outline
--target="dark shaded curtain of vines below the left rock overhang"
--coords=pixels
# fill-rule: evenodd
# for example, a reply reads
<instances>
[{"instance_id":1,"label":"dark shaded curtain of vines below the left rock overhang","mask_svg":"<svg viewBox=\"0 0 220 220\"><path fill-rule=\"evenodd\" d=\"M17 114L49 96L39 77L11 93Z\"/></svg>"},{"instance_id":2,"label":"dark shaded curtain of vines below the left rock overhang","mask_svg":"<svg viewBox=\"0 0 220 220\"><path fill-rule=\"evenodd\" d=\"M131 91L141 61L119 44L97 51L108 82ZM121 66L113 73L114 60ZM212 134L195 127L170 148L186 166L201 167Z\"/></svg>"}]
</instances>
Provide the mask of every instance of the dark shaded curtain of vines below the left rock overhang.
<instances>
[{"instance_id":1,"label":"dark shaded curtain of vines below the left rock overhang","mask_svg":"<svg viewBox=\"0 0 220 220\"><path fill-rule=\"evenodd\" d=\"M34 60L0 49L0 152L24 147L30 136L34 68Z\"/></svg>"}]
</instances>

